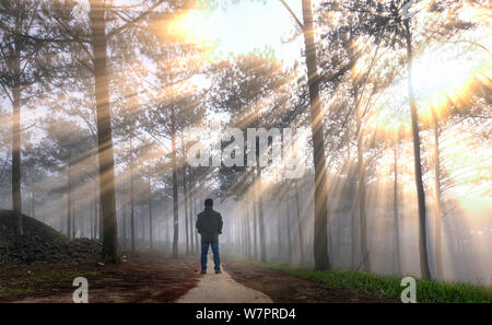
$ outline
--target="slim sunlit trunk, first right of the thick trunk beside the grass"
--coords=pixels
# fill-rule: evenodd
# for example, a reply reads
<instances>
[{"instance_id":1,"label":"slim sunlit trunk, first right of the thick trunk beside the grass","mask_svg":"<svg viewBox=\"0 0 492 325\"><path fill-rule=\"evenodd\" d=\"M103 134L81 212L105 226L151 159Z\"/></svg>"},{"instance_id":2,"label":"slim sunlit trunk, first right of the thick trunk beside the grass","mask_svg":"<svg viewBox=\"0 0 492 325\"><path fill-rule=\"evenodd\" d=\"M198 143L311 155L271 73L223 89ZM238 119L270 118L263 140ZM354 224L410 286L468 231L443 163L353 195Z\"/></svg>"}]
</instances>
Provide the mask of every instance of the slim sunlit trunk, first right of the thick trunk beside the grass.
<instances>
[{"instance_id":1,"label":"slim sunlit trunk, first right of the thick trunk beside the grass","mask_svg":"<svg viewBox=\"0 0 492 325\"><path fill-rule=\"evenodd\" d=\"M365 163L364 163L364 142L362 130L362 112L358 106L356 111L358 129L358 185L359 185L359 218L361 222L361 258L365 271L371 271L371 256L367 249L367 224L365 211Z\"/></svg>"}]
</instances>

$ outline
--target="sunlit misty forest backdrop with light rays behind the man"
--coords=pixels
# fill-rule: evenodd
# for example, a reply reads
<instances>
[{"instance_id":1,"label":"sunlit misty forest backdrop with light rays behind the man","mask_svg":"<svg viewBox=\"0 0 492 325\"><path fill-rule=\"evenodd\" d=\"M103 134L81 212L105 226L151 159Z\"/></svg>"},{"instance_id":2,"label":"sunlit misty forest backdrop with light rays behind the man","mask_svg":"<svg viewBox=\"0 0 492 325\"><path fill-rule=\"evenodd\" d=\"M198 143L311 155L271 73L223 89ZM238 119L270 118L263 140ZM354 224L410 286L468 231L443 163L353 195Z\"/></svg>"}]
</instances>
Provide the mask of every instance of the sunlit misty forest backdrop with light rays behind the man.
<instances>
[{"instance_id":1,"label":"sunlit misty forest backdrop with light rays behind the man","mask_svg":"<svg viewBox=\"0 0 492 325\"><path fill-rule=\"evenodd\" d=\"M36 3L14 2L19 12ZM97 15L74 19L58 2L47 1L52 5L34 18L45 30L23 25L23 33L82 40L36 43L2 30L2 48L22 43L0 63L2 209L15 210L19 195L23 214L69 237L102 240L103 214L108 233L113 227L102 198L107 207L114 198L121 254L189 255L199 252L195 222L210 197L224 221L225 255L314 267L319 254L331 269L421 277L419 245L426 240L432 279L492 285L490 10L456 4L446 15L440 1L430 1L411 28L379 31L376 22L359 23L371 21L368 13L350 11L360 1L347 1L343 14L314 1L316 37L306 46L316 49L297 49L285 62L277 47L218 54L213 35L191 33L207 24L200 12L213 10L195 1L156 7L139 21L145 28L117 30L125 16L108 11L104 49L84 40L87 26L97 26L87 20ZM302 15L300 3L293 10ZM295 20L288 21L284 35L303 45ZM313 65L305 66L313 51L316 85L307 77ZM103 53L106 72L95 59ZM10 63L17 59L22 69ZM10 82L17 72L23 77ZM294 138L305 130L307 140L292 150L305 173L284 177L284 164L270 158L259 166L259 154L248 150L254 166L191 166L190 148L207 142L206 131L219 137L226 127L245 139L248 128L292 128ZM269 151L272 143L270 137ZM326 184L318 196L316 176ZM316 214L316 200L326 204L326 219Z\"/></svg>"}]
</instances>

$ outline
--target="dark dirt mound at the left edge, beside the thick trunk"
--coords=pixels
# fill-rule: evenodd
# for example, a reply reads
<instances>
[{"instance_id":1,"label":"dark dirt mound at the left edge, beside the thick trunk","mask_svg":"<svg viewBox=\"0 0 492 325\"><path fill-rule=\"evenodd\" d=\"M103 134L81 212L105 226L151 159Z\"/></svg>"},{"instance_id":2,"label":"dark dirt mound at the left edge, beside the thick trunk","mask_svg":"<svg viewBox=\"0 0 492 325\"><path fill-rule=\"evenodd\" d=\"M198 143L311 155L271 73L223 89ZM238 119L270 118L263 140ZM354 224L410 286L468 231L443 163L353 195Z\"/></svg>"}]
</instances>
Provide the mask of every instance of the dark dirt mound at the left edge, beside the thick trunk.
<instances>
[{"instance_id":1,"label":"dark dirt mound at the left edge, beside the thick trunk","mask_svg":"<svg viewBox=\"0 0 492 325\"><path fill-rule=\"evenodd\" d=\"M102 257L98 241L70 240L49 225L23 214L24 234L14 232L10 210L0 210L0 264L73 263Z\"/></svg>"}]
</instances>

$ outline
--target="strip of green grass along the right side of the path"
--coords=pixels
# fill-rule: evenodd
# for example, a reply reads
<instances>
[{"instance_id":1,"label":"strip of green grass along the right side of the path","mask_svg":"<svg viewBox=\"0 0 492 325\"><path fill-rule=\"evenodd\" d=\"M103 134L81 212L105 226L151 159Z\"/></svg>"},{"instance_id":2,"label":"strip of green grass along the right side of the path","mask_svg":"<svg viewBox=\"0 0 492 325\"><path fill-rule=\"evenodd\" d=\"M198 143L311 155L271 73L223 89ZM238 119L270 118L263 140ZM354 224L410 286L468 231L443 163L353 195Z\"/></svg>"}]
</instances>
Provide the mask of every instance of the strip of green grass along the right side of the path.
<instances>
[{"instance_id":1,"label":"strip of green grass along the right side of the path","mask_svg":"<svg viewBox=\"0 0 492 325\"><path fill-rule=\"evenodd\" d=\"M329 270L318 271L312 267L288 266L284 264L257 263L254 265L278 270L288 275L308 279L332 288L347 288L353 292L400 300L401 279L363 271ZM461 282L420 280L417 282L417 302L492 302L492 287Z\"/></svg>"}]
</instances>

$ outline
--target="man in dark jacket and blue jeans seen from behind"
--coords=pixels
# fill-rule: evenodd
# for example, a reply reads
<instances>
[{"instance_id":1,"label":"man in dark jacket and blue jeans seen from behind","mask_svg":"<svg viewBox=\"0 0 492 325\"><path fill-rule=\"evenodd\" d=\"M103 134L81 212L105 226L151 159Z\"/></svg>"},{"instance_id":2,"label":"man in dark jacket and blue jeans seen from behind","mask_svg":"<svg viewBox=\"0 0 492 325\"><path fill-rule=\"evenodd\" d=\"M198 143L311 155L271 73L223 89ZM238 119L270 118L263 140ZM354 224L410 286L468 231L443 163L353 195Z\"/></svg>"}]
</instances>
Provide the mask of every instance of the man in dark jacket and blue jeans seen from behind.
<instances>
[{"instance_id":1,"label":"man in dark jacket and blue jeans seen from behind","mask_svg":"<svg viewBox=\"0 0 492 325\"><path fill-rule=\"evenodd\" d=\"M201 274L207 274L207 254L212 246L215 274L221 272L221 256L219 254L219 235L222 233L222 216L213 210L213 200L204 200L204 209L198 213L197 230L201 235Z\"/></svg>"}]
</instances>

